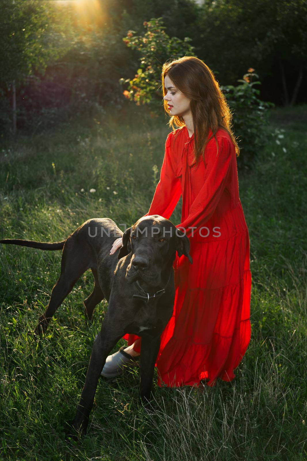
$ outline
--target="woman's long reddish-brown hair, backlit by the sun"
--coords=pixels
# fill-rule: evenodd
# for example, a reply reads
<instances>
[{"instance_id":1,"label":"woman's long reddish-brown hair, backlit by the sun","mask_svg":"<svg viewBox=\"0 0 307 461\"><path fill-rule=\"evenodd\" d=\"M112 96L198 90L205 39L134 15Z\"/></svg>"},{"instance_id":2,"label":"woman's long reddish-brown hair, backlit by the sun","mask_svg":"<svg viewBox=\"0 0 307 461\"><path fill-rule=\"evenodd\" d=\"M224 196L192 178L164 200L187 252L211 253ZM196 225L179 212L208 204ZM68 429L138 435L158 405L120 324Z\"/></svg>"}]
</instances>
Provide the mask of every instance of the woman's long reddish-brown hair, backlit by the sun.
<instances>
[{"instance_id":1,"label":"woman's long reddish-brown hair, backlit by the sun","mask_svg":"<svg viewBox=\"0 0 307 461\"><path fill-rule=\"evenodd\" d=\"M161 74L163 96L166 95L164 85L166 75L174 83L177 90L191 100L190 109L193 118L196 163L200 160L201 154L203 154L205 161L205 147L213 136L218 149L215 134L219 128L223 128L230 135L238 157L240 149L231 130L232 114L225 96L219 89L213 71L201 59L193 56L184 56L167 62L163 65ZM164 100L164 109L168 115L171 115L166 100ZM171 116L168 124L173 131L175 131L174 125L177 127L185 126L180 115ZM208 139L210 129L213 134Z\"/></svg>"}]
</instances>

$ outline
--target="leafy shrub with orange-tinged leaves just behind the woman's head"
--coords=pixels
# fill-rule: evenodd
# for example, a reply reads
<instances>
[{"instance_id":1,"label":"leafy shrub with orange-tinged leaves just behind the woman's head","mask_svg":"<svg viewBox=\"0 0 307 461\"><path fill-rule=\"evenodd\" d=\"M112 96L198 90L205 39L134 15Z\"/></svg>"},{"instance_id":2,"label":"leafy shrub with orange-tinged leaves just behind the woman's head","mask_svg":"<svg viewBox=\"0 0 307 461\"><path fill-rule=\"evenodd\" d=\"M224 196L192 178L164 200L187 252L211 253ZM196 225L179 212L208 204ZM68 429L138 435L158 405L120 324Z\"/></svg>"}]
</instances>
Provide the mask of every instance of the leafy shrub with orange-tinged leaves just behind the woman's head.
<instances>
[{"instance_id":1,"label":"leafy shrub with orange-tinged leaves just behind the woman's head","mask_svg":"<svg viewBox=\"0 0 307 461\"><path fill-rule=\"evenodd\" d=\"M128 83L128 90L124 90L127 99L141 103L148 103L155 107L161 107L161 71L162 65L170 58L180 58L193 54L189 42L191 39L185 37L180 40L177 37L170 38L163 28L162 18L153 18L143 23L147 32L143 35L134 35L134 30L129 30L123 38L124 43L132 49L142 53L140 64L135 77L130 80L120 79L121 83Z\"/></svg>"}]
</instances>

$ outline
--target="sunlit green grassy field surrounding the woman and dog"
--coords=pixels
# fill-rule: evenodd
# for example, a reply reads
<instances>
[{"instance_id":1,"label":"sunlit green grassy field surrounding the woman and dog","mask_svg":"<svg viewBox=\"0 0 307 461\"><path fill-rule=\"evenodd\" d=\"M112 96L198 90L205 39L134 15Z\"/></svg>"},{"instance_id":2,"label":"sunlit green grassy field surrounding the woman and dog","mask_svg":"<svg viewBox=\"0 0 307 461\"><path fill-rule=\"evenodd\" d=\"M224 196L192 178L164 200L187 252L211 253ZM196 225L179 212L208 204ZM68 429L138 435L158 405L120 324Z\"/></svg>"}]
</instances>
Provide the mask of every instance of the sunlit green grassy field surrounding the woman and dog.
<instances>
[{"instance_id":1,"label":"sunlit green grassy field surrounding the woman and dog","mask_svg":"<svg viewBox=\"0 0 307 461\"><path fill-rule=\"evenodd\" d=\"M83 300L93 287L86 272L36 341L31 332L61 252L0 246L1 460L307 459L306 119L307 106L272 110L266 147L239 176L252 338L231 383L202 390L154 383L156 410L147 415L137 370L101 380L87 436L67 444L107 304L86 323ZM134 223L148 211L169 131L163 116L131 108L2 142L0 238L63 240L97 217ZM180 212L181 200L174 224Z\"/></svg>"}]
</instances>

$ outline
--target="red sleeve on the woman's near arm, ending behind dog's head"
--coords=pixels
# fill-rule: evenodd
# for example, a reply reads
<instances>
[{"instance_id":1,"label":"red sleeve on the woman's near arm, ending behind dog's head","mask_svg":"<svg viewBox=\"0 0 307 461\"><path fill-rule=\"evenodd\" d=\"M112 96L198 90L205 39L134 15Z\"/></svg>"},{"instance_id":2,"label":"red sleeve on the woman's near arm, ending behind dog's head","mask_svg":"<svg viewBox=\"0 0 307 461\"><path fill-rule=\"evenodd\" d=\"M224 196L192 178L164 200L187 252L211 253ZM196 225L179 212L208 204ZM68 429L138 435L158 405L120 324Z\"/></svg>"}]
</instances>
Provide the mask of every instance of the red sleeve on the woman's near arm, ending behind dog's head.
<instances>
[{"instance_id":1,"label":"red sleeve on the woman's near arm, ending behind dog's head","mask_svg":"<svg viewBox=\"0 0 307 461\"><path fill-rule=\"evenodd\" d=\"M181 228L184 227L186 236L189 238L192 237L192 229L189 229L189 226L196 227L193 230L194 234L199 231L200 227L205 226L213 215L225 189L231 165L231 148L226 137L220 136L217 141L218 155L214 138L213 142L207 145L209 151L206 171L208 174L204 185L189 209L189 216L176 226L181 231L183 231Z\"/></svg>"}]
</instances>

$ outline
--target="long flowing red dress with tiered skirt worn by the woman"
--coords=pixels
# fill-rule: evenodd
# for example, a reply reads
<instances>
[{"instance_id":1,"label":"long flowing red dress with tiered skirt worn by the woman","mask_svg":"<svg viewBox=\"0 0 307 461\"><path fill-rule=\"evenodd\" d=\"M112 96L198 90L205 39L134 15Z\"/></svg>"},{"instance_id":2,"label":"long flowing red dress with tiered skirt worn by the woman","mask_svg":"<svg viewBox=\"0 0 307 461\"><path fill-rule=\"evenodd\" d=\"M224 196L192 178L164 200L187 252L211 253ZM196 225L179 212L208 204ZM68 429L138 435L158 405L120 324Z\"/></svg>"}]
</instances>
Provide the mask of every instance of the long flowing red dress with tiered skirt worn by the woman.
<instances>
[{"instance_id":1,"label":"long flowing red dress with tiered skirt worn by the woman","mask_svg":"<svg viewBox=\"0 0 307 461\"><path fill-rule=\"evenodd\" d=\"M186 230L193 259L191 265L186 256L176 254L173 263L175 302L161 335L158 385L198 386L207 378L213 386L217 378L235 378L234 370L250 341L248 227L239 198L235 147L228 133L217 131L218 155L213 137L205 148L205 163L201 158L196 166L194 134L189 137L185 126L177 131L174 145L174 133L167 136L160 181L144 215L169 219L182 194L181 223L176 227ZM123 338L130 345L139 337Z\"/></svg>"}]
</instances>

